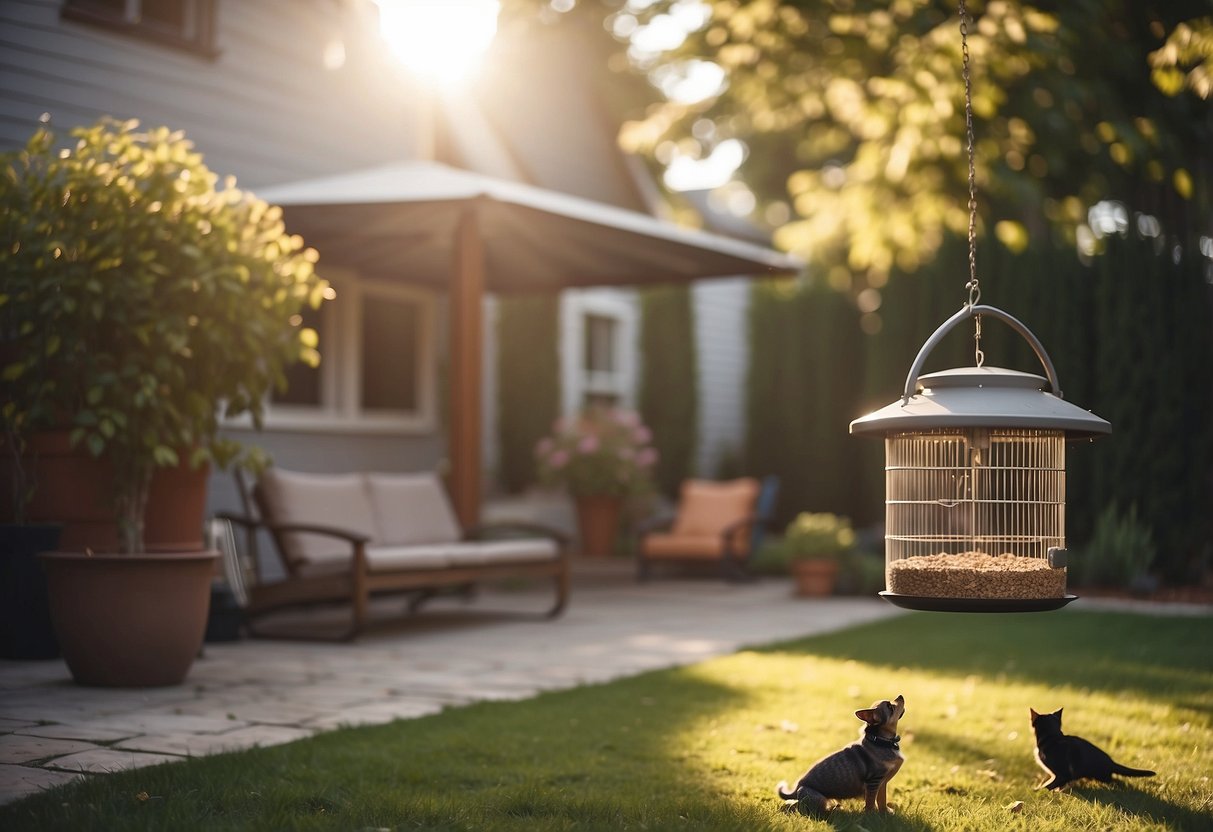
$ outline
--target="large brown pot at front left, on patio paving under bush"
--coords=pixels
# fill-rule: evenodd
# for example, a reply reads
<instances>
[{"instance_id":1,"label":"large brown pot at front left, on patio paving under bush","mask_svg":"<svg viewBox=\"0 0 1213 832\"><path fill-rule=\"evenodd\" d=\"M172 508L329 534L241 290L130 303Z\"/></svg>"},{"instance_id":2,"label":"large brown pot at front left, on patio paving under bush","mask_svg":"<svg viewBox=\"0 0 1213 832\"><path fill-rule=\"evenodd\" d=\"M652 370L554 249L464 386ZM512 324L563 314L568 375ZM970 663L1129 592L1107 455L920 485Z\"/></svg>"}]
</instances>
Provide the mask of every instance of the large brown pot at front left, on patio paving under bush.
<instances>
[{"instance_id":1,"label":"large brown pot at front left, on patio paving under bush","mask_svg":"<svg viewBox=\"0 0 1213 832\"><path fill-rule=\"evenodd\" d=\"M55 632L79 684L181 684L203 644L218 552L40 557Z\"/></svg>"}]
</instances>

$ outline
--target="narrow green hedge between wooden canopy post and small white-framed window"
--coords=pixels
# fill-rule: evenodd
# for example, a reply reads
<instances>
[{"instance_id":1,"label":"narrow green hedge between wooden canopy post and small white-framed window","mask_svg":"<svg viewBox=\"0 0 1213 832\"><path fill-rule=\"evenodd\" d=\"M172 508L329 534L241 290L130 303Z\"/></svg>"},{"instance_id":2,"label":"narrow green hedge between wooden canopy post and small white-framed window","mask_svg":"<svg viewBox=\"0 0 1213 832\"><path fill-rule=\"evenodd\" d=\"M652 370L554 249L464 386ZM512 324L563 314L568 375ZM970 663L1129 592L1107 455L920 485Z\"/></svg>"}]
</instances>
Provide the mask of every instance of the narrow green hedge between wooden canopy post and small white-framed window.
<instances>
[{"instance_id":1,"label":"narrow green hedge between wooden canopy post and small white-framed window","mask_svg":"<svg viewBox=\"0 0 1213 832\"><path fill-rule=\"evenodd\" d=\"M497 479L509 492L536 481L535 444L560 411L557 296L497 304Z\"/></svg>"}]
</instances>

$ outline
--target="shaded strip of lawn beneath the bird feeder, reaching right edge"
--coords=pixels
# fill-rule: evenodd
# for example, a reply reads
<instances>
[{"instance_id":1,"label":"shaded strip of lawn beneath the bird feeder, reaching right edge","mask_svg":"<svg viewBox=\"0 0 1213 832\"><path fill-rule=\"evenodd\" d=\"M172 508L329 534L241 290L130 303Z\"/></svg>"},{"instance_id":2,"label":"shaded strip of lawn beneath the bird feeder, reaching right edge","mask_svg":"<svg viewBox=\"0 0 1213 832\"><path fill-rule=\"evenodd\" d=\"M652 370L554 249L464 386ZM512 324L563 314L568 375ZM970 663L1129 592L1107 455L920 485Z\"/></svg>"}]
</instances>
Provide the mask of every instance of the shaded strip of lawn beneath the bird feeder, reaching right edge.
<instances>
[{"instance_id":1,"label":"shaded strip of lawn beneath the bird feeder, reaching right edge","mask_svg":"<svg viewBox=\"0 0 1213 832\"><path fill-rule=\"evenodd\" d=\"M1127 695L1166 691L1208 710L1213 639L1194 638L1202 625L1208 620L1115 612L916 612L898 619L892 637L878 622L765 650Z\"/></svg>"}]
</instances>

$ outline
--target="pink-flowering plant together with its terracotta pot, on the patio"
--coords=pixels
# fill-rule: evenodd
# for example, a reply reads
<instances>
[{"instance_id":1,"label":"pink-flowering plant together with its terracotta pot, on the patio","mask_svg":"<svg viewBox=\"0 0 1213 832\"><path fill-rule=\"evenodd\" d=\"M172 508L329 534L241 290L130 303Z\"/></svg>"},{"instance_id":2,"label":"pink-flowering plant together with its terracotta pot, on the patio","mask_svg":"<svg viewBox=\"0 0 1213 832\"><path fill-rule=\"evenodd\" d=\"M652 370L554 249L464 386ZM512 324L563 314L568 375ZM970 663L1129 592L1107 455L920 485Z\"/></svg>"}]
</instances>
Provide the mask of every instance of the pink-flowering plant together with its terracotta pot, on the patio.
<instances>
[{"instance_id":1,"label":"pink-flowering plant together with its terracotta pot, on the patio","mask_svg":"<svg viewBox=\"0 0 1213 832\"><path fill-rule=\"evenodd\" d=\"M582 554L614 551L623 500L651 488L657 461L651 443L638 414L591 408L557 420L552 435L536 445L540 480L565 488L576 503Z\"/></svg>"}]
</instances>

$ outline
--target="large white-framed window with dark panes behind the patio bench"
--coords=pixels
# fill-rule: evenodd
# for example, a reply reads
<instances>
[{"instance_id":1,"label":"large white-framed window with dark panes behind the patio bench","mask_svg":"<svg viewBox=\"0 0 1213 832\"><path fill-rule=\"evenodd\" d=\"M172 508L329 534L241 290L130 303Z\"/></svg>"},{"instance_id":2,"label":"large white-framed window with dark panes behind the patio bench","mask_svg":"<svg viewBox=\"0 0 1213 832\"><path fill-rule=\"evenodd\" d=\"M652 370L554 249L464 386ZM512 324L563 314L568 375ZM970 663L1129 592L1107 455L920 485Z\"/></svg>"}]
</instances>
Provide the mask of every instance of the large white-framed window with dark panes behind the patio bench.
<instances>
[{"instance_id":1,"label":"large white-framed window with dark panes behind the patio bench","mask_svg":"<svg viewBox=\"0 0 1213 832\"><path fill-rule=\"evenodd\" d=\"M325 273L334 279L332 270ZM408 286L334 279L337 297L306 308L320 366L292 365L266 414L270 428L400 432L434 424L433 296Z\"/></svg>"}]
</instances>

